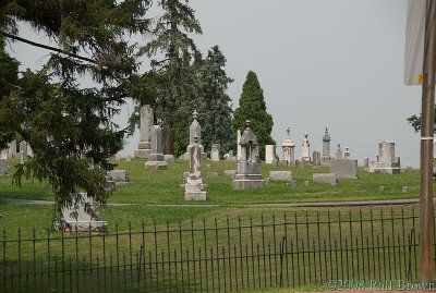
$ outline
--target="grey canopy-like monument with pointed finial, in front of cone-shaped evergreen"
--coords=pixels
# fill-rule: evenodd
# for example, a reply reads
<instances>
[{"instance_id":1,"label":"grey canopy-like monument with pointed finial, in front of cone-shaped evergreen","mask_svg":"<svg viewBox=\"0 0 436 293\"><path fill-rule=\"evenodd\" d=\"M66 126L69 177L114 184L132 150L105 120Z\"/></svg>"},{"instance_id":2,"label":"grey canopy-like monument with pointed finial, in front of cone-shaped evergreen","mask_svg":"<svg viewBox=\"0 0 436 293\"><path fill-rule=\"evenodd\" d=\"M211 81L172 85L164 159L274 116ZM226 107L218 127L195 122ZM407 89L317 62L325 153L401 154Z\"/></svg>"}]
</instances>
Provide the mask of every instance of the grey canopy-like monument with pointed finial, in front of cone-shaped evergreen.
<instances>
[{"instance_id":1,"label":"grey canopy-like monument with pointed finial, in front of cone-shaped evergreen","mask_svg":"<svg viewBox=\"0 0 436 293\"><path fill-rule=\"evenodd\" d=\"M241 160L238 162L238 171L234 175L233 190L252 190L265 186L262 179L258 155L257 137L250 129L250 121L246 122L246 129L241 136Z\"/></svg>"}]
</instances>

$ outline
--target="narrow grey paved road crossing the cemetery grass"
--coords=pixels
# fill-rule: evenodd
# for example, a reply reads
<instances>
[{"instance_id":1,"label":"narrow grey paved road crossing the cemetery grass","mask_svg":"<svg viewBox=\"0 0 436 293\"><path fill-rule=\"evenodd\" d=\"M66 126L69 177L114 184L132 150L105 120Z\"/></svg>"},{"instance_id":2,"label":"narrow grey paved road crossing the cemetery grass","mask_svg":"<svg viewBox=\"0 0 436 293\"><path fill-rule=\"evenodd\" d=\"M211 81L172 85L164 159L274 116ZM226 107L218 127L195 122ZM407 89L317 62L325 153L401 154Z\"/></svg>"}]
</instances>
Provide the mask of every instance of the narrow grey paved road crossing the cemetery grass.
<instances>
[{"instance_id":1,"label":"narrow grey paved road crossing the cemetery grass","mask_svg":"<svg viewBox=\"0 0 436 293\"><path fill-rule=\"evenodd\" d=\"M0 198L0 200L13 204L23 205L52 205L52 200L32 200L32 199L20 199L20 198ZM276 204L242 204L234 206L244 207L365 207L365 206L393 206L393 205L411 205L417 204L420 199L389 199L389 200L365 200L365 202L325 202L325 203L276 203ZM436 203L436 198L434 199ZM190 207L190 208L203 208L203 207L220 207L221 205L154 205L154 204L116 204L109 203L108 206L147 206L147 207ZM228 205L227 205L228 206ZM232 206L232 205L230 205Z\"/></svg>"}]
</instances>

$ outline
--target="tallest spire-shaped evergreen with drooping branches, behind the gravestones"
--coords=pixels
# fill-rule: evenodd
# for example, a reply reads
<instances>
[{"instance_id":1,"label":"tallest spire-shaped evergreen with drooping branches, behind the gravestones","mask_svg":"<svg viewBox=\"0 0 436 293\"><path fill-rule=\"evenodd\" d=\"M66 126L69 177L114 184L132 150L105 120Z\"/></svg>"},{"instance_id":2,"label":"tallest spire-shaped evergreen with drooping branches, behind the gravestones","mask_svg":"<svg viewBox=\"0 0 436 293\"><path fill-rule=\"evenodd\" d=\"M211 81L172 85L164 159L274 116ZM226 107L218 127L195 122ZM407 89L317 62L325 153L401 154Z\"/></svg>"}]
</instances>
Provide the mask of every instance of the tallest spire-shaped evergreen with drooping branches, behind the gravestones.
<instances>
[{"instance_id":1,"label":"tallest spire-shaped evergreen with drooping branches, behind the gravestones","mask_svg":"<svg viewBox=\"0 0 436 293\"><path fill-rule=\"evenodd\" d=\"M155 100L155 113L162 125L164 152L174 154L177 132L185 132L182 125L186 121L183 107L192 99L193 71L192 61L199 52L189 34L202 34L194 10L187 5L187 0L160 0L159 7L164 14L156 23L152 34L155 39L149 41L140 53L155 58L158 52L164 54L160 60L153 59L152 66L160 75L159 88Z\"/></svg>"}]
</instances>

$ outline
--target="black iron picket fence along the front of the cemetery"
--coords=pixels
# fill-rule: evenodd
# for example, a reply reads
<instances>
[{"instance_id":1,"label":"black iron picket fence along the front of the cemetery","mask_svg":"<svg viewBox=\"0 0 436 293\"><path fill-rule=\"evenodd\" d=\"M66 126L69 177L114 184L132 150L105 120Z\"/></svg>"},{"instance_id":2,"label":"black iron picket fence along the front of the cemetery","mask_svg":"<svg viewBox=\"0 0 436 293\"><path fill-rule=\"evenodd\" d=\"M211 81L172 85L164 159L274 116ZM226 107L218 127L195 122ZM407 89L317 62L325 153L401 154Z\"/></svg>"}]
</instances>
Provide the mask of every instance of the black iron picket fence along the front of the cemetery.
<instances>
[{"instance_id":1,"label":"black iron picket fence along the front of the cemetery","mask_svg":"<svg viewBox=\"0 0 436 293\"><path fill-rule=\"evenodd\" d=\"M240 292L415 280L414 209L294 212L107 234L3 230L3 292ZM349 285L353 283L349 283Z\"/></svg>"}]
</instances>

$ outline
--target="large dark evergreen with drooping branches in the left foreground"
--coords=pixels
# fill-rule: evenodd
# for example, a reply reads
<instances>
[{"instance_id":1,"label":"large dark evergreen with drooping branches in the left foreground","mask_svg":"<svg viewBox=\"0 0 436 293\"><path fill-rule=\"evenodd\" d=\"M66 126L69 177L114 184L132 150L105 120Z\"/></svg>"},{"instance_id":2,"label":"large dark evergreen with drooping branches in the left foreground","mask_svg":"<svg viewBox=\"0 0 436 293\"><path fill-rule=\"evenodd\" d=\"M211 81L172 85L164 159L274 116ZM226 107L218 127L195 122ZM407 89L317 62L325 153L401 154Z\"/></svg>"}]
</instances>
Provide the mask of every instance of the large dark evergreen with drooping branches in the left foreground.
<instances>
[{"instance_id":1,"label":"large dark evergreen with drooping branches in the left foreground","mask_svg":"<svg viewBox=\"0 0 436 293\"><path fill-rule=\"evenodd\" d=\"M10 85L0 89L0 134L17 133L31 144L34 157L17 166L14 182L20 184L23 178L48 182L56 216L78 191L101 204L107 199L104 175L111 168L107 159L122 147L123 137L111 118L124 102L122 82L136 66L123 36L146 29L147 22L137 20L147 2L7 0L0 4L0 68L13 69L0 73L0 85ZM27 70L19 76L14 62L4 57L2 36L19 39L15 20L60 46L51 48L48 63L38 72ZM84 52L85 58L80 56ZM78 76L92 77L97 86L81 86Z\"/></svg>"}]
</instances>

